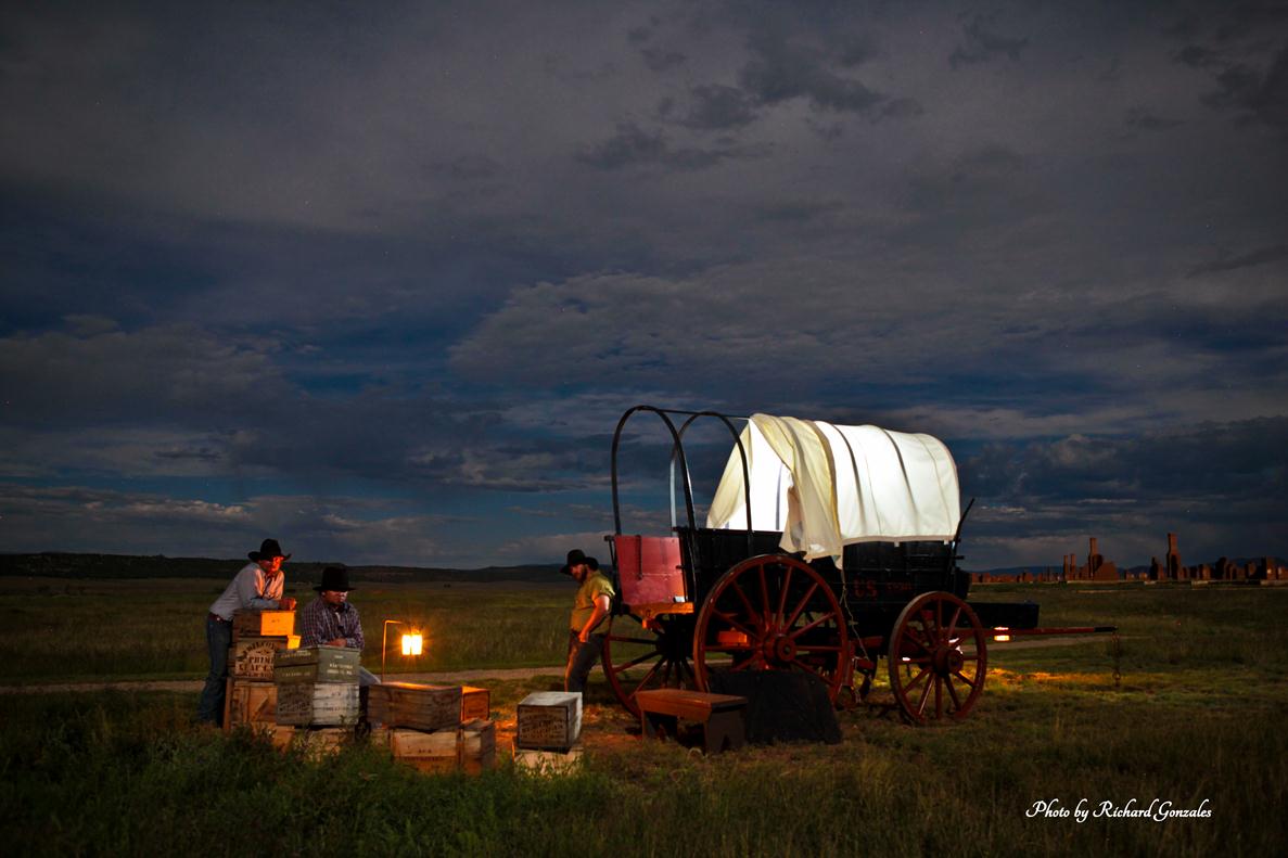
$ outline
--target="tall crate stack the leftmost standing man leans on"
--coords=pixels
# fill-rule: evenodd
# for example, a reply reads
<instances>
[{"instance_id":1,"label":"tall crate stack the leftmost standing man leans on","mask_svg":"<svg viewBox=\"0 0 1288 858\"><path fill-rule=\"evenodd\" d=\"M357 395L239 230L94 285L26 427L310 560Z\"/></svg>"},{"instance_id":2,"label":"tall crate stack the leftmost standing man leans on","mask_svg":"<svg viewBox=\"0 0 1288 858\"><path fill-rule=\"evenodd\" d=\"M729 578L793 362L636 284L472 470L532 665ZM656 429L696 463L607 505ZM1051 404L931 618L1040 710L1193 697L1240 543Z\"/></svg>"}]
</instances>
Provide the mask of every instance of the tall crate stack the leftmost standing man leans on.
<instances>
[{"instance_id":1,"label":"tall crate stack the leftmost standing man leans on","mask_svg":"<svg viewBox=\"0 0 1288 858\"><path fill-rule=\"evenodd\" d=\"M277 688L273 657L299 645L294 611L236 611L233 645L228 651L228 688L224 693L224 730L249 727L272 732Z\"/></svg>"}]
</instances>

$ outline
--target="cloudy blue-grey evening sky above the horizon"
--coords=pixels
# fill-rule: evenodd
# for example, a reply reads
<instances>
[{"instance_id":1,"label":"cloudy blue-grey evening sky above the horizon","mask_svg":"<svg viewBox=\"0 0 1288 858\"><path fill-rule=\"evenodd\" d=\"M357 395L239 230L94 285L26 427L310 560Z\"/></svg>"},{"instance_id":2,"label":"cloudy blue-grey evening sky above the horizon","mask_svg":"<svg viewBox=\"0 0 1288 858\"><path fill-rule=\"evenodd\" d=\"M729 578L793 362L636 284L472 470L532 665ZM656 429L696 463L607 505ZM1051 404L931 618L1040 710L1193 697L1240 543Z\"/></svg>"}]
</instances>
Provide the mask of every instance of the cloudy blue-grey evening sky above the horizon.
<instances>
[{"instance_id":1,"label":"cloudy blue-grey evening sky above the horizon","mask_svg":"<svg viewBox=\"0 0 1288 858\"><path fill-rule=\"evenodd\" d=\"M1284 3L0 32L0 551L553 562L648 402L943 438L971 568L1288 555Z\"/></svg>"}]
</instances>

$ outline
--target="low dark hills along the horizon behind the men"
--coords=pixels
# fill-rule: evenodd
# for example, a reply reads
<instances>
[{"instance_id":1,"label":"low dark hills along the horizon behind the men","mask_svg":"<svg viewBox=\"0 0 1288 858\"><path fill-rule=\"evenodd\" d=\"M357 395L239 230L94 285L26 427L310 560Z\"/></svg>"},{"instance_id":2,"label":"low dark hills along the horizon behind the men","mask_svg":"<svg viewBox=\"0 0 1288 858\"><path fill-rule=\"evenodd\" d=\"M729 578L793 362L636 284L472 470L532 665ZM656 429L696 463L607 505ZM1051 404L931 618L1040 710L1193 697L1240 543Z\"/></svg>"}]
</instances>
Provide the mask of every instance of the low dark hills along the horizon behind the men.
<instances>
[{"instance_id":1,"label":"low dark hills along the horizon behind the men","mask_svg":"<svg viewBox=\"0 0 1288 858\"><path fill-rule=\"evenodd\" d=\"M0 554L0 577L52 578L231 578L246 564L243 558L138 557L130 554ZM322 568L340 563L287 564L292 581L314 581ZM417 568L406 566L349 566L354 581L535 581L556 582L559 566L489 566L482 569Z\"/></svg>"}]
</instances>

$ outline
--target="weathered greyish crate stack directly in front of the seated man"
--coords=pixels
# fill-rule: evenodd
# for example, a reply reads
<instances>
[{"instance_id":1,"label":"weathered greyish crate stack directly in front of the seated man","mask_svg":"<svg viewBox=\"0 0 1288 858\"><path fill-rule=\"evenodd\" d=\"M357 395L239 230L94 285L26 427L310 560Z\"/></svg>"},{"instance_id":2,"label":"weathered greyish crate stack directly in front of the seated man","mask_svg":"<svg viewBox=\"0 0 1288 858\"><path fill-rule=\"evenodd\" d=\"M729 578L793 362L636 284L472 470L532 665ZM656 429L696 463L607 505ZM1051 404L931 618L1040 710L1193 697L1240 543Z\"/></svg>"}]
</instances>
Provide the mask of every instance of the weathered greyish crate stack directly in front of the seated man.
<instances>
[{"instance_id":1,"label":"weathered greyish crate stack directly in front of the seated man","mask_svg":"<svg viewBox=\"0 0 1288 858\"><path fill-rule=\"evenodd\" d=\"M279 649L274 654L279 743L334 748L358 723L358 660L346 647Z\"/></svg>"}]
</instances>

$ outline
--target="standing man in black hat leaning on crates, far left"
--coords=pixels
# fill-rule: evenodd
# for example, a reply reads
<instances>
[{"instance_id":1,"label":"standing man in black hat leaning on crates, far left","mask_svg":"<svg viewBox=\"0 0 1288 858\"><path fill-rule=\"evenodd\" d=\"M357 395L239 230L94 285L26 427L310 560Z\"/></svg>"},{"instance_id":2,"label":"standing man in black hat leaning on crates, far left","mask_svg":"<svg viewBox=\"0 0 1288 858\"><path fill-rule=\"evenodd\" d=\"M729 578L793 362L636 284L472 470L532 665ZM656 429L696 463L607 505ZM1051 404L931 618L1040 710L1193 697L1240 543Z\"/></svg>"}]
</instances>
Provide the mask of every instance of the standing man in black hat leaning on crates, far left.
<instances>
[{"instance_id":1,"label":"standing man in black hat leaning on crates, far left","mask_svg":"<svg viewBox=\"0 0 1288 858\"><path fill-rule=\"evenodd\" d=\"M277 540L264 540L258 551L246 557L243 566L224 587L223 594L210 605L206 615L206 645L210 647L210 672L197 705L197 720L220 725L224 719L224 688L228 680L228 648L233 645L233 612L242 608L282 609L295 608L295 599L282 596L286 575L282 562L290 554L282 553Z\"/></svg>"}]
</instances>

